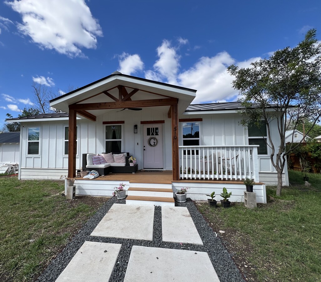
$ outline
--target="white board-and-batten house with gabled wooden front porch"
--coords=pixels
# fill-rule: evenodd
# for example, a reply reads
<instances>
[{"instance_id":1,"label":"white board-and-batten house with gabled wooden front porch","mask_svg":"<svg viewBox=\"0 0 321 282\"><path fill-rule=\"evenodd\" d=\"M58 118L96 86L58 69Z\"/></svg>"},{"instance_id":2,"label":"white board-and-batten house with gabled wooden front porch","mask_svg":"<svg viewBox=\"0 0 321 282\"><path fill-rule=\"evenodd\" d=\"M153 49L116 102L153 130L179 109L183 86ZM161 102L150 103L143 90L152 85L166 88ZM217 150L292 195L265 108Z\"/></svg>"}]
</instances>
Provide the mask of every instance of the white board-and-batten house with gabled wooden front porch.
<instances>
[{"instance_id":1,"label":"white board-and-batten house with gabled wooden front porch","mask_svg":"<svg viewBox=\"0 0 321 282\"><path fill-rule=\"evenodd\" d=\"M76 179L76 193L111 195L123 181L129 188L189 187L189 197L203 200L226 186L232 201L243 201L242 179L249 177L256 182L257 202L266 203L265 184L277 183L267 134L259 133L266 126L240 126L238 102L191 105L195 95L193 89L115 72L51 100L63 113L10 119L21 122L19 178L75 176L84 153L129 152L138 169L163 171L162 181L140 171L127 180L111 174ZM277 126L271 128L277 144ZM283 180L288 185L287 170Z\"/></svg>"}]
</instances>

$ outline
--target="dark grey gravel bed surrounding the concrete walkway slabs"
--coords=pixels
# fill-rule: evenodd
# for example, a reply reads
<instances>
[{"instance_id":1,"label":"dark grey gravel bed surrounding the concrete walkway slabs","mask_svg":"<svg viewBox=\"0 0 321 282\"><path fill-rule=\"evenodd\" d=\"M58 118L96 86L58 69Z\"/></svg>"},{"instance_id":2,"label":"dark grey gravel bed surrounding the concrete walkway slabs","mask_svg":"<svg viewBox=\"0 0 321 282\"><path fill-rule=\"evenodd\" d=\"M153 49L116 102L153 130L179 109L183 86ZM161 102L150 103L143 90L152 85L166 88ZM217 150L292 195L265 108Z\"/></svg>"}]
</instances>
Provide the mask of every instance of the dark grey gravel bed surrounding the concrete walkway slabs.
<instances>
[{"instance_id":1,"label":"dark grey gravel bed surrounding the concrete walkway slabs","mask_svg":"<svg viewBox=\"0 0 321 282\"><path fill-rule=\"evenodd\" d=\"M70 260L73 258L74 254L82 246L84 241L122 244L116 265L111 274L109 282L124 281L127 263L129 261L129 256L133 245L207 252L221 282L245 281L242 278L242 274L240 273L239 269L234 264L232 255L229 254L229 252L223 246L221 239L216 235L215 232L213 232L213 229L204 220L203 216L198 212L196 206L190 199L188 199L186 203L175 202L175 205L187 207L203 240L203 246L163 242L161 235L162 226L160 206L155 207L153 241L91 237L91 232L94 230L94 228L114 203L125 204L125 200L117 200L116 197L112 197L110 198L110 200L108 200L108 202L106 202L105 205L101 206L97 213L87 221L87 223L81 228L81 230L79 230L79 232L73 237L73 239L66 245L64 250L62 250L62 252L59 253L56 258L50 262L45 271L38 277L37 281L55 281L60 273L68 265Z\"/></svg>"}]
</instances>

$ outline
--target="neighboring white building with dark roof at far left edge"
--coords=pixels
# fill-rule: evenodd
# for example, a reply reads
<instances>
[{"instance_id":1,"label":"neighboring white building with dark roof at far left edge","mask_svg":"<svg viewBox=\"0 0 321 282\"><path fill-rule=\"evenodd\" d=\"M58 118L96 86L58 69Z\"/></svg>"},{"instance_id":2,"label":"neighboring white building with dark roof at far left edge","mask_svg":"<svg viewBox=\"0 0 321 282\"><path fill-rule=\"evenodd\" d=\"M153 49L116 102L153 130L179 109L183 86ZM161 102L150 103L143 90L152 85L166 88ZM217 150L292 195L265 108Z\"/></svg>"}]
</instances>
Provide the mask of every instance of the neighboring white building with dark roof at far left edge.
<instances>
[{"instance_id":1,"label":"neighboring white building with dark roof at far left edge","mask_svg":"<svg viewBox=\"0 0 321 282\"><path fill-rule=\"evenodd\" d=\"M19 163L20 132L0 133L0 163Z\"/></svg>"}]
</instances>

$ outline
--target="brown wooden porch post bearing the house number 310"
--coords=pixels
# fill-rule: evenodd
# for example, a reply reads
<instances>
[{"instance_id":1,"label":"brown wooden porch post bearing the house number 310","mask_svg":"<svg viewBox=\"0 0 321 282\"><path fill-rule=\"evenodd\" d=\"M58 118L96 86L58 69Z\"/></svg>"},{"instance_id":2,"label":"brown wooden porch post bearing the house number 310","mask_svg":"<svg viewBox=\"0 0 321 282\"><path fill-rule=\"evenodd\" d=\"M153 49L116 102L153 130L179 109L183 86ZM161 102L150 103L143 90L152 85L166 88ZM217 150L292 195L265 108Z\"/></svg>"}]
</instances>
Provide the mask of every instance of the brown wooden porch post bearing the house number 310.
<instances>
[{"instance_id":1,"label":"brown wooden porch post bearing the house number 310","mask_svg":"<svg viewBox=\"0 0 321 282\"><path fill-rule=\"evenodd\" d=\"M179 180L179 153L178 153L178 109L177 104L171 106L172 116L172 165L173 180Z\"/></svg>"}]
</instances>

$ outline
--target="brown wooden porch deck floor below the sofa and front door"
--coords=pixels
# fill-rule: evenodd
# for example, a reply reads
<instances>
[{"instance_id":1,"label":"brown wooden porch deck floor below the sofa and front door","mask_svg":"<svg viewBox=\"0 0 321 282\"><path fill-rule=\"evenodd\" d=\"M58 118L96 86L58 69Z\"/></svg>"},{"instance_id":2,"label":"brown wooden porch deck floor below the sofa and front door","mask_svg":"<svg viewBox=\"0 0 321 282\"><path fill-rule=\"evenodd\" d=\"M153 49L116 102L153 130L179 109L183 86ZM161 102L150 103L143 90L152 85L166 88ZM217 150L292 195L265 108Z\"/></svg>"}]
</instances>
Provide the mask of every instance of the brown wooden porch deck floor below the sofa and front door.
<instances>
[{"instance_id":1,"label":"brown wooden porch deck floor below the sofa and front door","mask_svg":"<svg viewBox=\"0 0 321 282\"><path fill-rule=\"evenodd\" d=\"M83 178L76 178L83 179ZM172 182L186 182L186 183L217 183L217 184L243 184L241 180L178 180L173 181L173 174L171 170L163 170L162 172L146 172L137 171L136 173L109 173L105 176L100 176L95 179L83 179L83 180L110 180L110 181L129 181L130 183L159 183L159 184L171 184ZM263 183L257 183L263 184Z\"/></svg>"}]
</instances>

